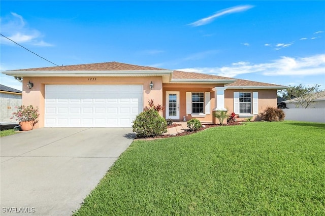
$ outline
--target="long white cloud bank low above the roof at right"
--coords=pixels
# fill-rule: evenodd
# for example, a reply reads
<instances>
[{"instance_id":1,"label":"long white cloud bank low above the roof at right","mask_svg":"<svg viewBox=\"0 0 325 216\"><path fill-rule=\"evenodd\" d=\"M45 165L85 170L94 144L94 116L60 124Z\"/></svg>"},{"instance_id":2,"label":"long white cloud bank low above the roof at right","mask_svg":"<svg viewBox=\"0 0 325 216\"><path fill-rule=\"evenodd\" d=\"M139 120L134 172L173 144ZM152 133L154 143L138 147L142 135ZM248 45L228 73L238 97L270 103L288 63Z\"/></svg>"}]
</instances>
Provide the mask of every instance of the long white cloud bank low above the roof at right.
<instances>
[{"instance_id":1,"label":"long white cloud bank low above the roof at right","mask_svg":"<svg viewBox=\"0 0 325 216\"><path fill-rule=\"evenodd\" d=\"M325 54L309 57L281 57L272 62L253 64L235 62L223 67L195 67L178 69L188 72L205 73L223 77L260 73L265 76L312 76L325 75Z\"/></svg>"}]
</instances>

